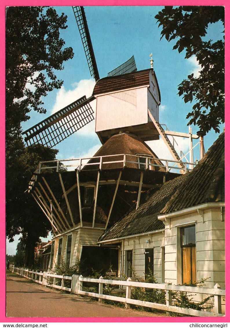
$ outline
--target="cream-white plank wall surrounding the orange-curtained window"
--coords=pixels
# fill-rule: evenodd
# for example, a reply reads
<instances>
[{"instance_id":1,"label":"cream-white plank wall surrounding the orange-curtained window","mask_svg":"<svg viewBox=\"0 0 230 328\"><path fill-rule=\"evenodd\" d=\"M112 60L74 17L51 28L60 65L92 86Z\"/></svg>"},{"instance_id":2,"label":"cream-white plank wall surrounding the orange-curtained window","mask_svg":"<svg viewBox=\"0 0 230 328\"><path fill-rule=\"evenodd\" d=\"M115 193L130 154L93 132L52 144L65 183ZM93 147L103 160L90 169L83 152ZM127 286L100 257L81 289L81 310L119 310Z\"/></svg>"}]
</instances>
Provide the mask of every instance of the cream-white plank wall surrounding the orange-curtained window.
<instances>
[{"instance_id":1,"label":"cream-white plank wall surrounding the orange-curtained window","mask_svg":"<svg viewBox=\"0 0 230 328\"><path fill-rule=\"evenodd\" d=\"M201 212L202 213L202 212ZM165 223L165 282L181 284L180 228L186 224L196 225L197 280L207 278L206 287L225 284L224 213L220 207L207 208L203 212L204 223L197 211L184 213Z\"/></svg>"}]
</instances>

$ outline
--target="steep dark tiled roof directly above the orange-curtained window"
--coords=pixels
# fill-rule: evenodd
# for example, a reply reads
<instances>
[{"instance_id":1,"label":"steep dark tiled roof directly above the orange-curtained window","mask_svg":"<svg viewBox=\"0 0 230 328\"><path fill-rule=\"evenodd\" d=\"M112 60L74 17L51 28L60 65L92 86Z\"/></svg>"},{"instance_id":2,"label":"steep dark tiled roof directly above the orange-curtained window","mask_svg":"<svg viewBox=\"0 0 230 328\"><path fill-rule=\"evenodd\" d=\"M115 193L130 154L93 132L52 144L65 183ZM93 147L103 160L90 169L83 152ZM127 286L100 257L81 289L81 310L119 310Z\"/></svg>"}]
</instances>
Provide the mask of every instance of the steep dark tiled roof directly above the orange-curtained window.
<instances>
[{"instance_id":1,"label":"steep dark tiled roof directly above the orange-curtained window","mask_svg":"<svg viewBox=\"0 0 230 328\"><path fill-rule=\"evenodd\" d=\"M224 201L224 132L161 210L175 212L206 202Z\"/></svg>"}]
</instances>

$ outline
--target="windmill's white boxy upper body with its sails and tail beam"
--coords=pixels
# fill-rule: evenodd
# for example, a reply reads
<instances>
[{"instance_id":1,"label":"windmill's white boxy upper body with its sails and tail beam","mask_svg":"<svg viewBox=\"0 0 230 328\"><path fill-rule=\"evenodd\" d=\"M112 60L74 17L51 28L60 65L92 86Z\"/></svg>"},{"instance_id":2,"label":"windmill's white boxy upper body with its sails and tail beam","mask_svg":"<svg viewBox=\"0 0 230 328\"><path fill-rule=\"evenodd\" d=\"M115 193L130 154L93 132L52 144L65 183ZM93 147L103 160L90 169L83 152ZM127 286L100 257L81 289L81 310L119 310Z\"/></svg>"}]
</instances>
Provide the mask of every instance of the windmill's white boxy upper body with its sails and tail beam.
<instances>
[{"instance_id":1,"label":"windmill's white boxy upper body with its sails and tail beam","mask_svg":"<svg viewBox=\"0 0 230 328\"><path fill-rule=\"evenodd\" d=\"M59 142L66 139L68 136L94 120L94 112L90 103L94 99L97 99L97 119L95 132L97 133L102 144L111 135L121 132L133 133L139 136L143 141L159 139L160 135L174 160L177 162L181 161L181 158L167 137L167 134L170 134L170 132L164 131L164 129L158 123L160 92L157 83L157 77L153 70L152 54L150 55L150 70L139 71L140 74L138 74L135 59L134 56L132 56L125 63L109 72L107 77L100 79L84 8L72 8L80 32L90 73L96 82L94 92L89 98L82 96L70 105L64 107L45 120L26 130L23 134L25 135L25 141L27 145L31 146L33 144L42 144L43 146L47 147L53 147L57 145ZM134 80L138 81L139 84L133 83ZM127 104L134 104L136 99L139 99L139 105L142 106L143 101L139 96L137 89L140 88L140 86L143 86L144 83L147 87L146 89L148 89L148 94L145 93L146 106L142 111L142 117L140 117L141 115L139 114L137 103L133 107L136 109L136 112L134 111L132 113L133 109L130 107L130 113L127 114ZM122 88L120 85L122 85ZM131 87L133 89L130 91ZM118 98L120 101L119 104L117 103ZM123 101L122 104L121 101ZM107 107L109 104L109 107L112 108L108 115L105 113L106 110L104 108L104 103L106 103ZM114 105L115 103L117 103L117 105ZM122 119L120 121L118 120L118 122L117 108L123 108L123 112L120 113ZM107 122L104 122L105 116L107 116ZM111 126L112 121L116 122L117 125ZM174 135L176 134L174 133ZM191 133L184 133L183 136L190 137L191 139ZM192 135L192 138L197 138L197 136ZM178 166L182 170L184 169L184 165L182 163L178 163Z\"/></svg>"}]
</instances>

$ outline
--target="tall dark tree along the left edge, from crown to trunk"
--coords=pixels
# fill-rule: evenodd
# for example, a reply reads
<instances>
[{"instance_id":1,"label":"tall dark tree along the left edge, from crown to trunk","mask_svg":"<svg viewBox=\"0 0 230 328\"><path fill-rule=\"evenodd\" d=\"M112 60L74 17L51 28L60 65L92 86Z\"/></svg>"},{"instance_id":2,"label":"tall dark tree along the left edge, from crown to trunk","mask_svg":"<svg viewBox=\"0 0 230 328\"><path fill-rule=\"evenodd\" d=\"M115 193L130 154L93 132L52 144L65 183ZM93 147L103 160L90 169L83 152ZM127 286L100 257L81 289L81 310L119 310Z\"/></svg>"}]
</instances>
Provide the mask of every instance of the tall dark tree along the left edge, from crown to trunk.
<instances>
[{"instance_id":1,"label":"tall dark tree along the left edge, from crown to trunk","mask_svg":"<svg viewBox=\"0 0 230 328\"><path fill-rule=\"evenodd\" d=\"M51 225L25 191L38 162L55 159L58 151L39 146L29 151L21 122L30 118L32 109L45 113L41 97L63 83L55 70L73 57L72 48L63 49L60 38L66 21L53 8L9 7L6 14L6 234L13 241L22 233L27 267L33 266L36 242L47 236Z\"/></svg>"}]
</instances>

